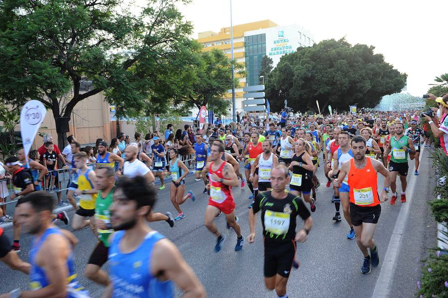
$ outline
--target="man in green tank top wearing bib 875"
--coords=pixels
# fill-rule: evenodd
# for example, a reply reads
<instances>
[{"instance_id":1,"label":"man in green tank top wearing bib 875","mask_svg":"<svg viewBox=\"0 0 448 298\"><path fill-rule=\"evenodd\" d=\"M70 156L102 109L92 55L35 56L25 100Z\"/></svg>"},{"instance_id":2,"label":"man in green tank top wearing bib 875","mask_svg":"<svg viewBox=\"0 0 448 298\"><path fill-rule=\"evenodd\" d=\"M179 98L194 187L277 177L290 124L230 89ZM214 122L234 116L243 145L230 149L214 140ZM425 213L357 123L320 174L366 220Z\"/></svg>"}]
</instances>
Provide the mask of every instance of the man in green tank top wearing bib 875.
<instances>
[{"instance_id":1,"label":"man in green tank top wearing bib 875","mask_svg":"<svg viewBox=\"0 0 448 298\"><path fill-rule=\"evenodd\" d=\"M408 153L415 154L414 142L408 136L403 135L404 126L403 123L395 124L395 137L390 139L390 143L387 145L385 153L391 152L391 158L389 163L389 171L391 172L392 183L390 188L392 190L392 198L390 204L395 204L397 200L397 174L400 175L401 181L401 202L406 201L406 176L408 175Z\"/></svg>"}]
</instances>

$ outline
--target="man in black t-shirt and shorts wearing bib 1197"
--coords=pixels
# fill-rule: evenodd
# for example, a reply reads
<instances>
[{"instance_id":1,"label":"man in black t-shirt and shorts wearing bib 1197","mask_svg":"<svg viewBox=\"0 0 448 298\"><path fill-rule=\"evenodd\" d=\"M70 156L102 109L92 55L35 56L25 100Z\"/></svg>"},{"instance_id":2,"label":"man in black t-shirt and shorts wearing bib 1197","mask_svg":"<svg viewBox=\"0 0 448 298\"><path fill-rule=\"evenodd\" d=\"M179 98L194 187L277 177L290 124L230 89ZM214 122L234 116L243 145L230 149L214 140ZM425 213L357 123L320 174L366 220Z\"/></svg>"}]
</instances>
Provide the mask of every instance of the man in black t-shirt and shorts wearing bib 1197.
<instances>
[{"instance_id":1,"label":"man in black t-shirt and shorts wearing bib 1197","mask_svg":"<svg viewBox=\"0 0 448 298\"><path fill-rule=\"evenodd\" d=\"M305 242L313 226L310 211L300 197L285 192L288 169L277 166L271 171L272 191L260 193L249 210L249 243L255 241L256 215L261 210L264 236L264 282L279 298L287 298L291 267L296 255L296 241ZM296 217L305 220L303 228L296 233Z\"/></svg>"}]
</instances>

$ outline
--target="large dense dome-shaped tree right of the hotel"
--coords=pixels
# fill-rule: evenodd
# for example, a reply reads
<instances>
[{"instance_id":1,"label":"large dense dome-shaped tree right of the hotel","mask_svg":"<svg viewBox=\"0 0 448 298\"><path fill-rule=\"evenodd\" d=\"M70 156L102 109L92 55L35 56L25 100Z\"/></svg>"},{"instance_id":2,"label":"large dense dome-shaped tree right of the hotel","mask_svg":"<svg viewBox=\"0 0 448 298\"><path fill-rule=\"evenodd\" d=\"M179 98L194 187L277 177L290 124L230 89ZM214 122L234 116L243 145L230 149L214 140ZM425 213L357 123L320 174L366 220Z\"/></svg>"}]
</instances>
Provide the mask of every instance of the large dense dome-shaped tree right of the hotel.
<instances>
[{"instance_id":1,"label":"large dense dome-shaped tree right of the hotel","mask_svg":"<svg viewBox=\"0 0 448 298\"><path fill-rule=\"evenodd\" d=\"M271 108L278 110L284 99L288 106L302 111L317 112L316 100L322 111L329 104L334 109L347 109L350 104L374 107L382 96L399 92L407 75L373 50L363 44L352 46L342 38L284 55L268 75Z\"/></svg>"}]
</instances>

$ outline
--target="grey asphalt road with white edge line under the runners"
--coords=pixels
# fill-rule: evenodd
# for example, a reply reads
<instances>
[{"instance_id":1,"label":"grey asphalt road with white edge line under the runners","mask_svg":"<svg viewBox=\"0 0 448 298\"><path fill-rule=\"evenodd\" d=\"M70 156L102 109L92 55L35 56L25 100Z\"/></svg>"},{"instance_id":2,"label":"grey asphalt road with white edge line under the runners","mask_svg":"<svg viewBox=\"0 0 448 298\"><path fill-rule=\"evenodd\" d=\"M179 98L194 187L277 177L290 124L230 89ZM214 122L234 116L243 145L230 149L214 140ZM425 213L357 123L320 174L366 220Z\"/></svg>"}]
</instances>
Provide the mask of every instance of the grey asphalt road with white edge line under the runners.
<instances>
[{"instance_id":1,"label":"grey asphalt road with white edge line under the runners","mask_svg":"<svg viewBox=\"0 0 448 298\"><path fill-rule=\"evenodd\" d=\"M360 253L355 240L346 238L348 225L344 219L335 223L332 217L335 213L334 204L331 203L332 190L322 185L317 191L317 210L312 214L314 226L309 234L308 241L298 245L298 259L301 267L291 273L287 292L289 297L353 297L370 298L380 276L379 288L386 287L387 296L394 298L413 297L417 289L417 281L420 277L421 259L427 256L427 248L436 245L436 223L431 216L428 201L432 200L434 188L433 171L431 167L430 152L425 150L421 158L420 176L408 176L408 182L415 179L415 188L408 190L409 213L404 218L404 230L401 233L401 241L398 246L389 246L392 233L397 224L400 210L404 204L397 200L392 206L389 202L382 204L381 216L375 233L375 241L378 246L380 265L372 268L369 275L362 275L360 267L363 256ZM409 173L414 173L414 162L409 162ZM323 169L319 169L321 181ZM397 179L399 181L399 179ZM413 184L413 183L411 183ZM383 185L383 178L379 178L379 188ZM398 182L399 185L399 182ZM205 286L208 297L213 298L237 298L237 297L276 297L270 293L263 283L263 240L261 224L258 215L256 225L255 243L245 243L240 252L234 251L236 236L232 230L226 230L224 216L215 221L221 231L227 235L224 249L220 253L213 251L216 238L205 228L203 224L204 211L208 198L202 194L204 185L202 181L195 182L190 175L187 178L187 190L192 189L197 200L186 201L182 208L186 217L177 221L174 228L170 228L165 222L151 223L150 226L173 241L180 249L185 260L190 264ZM401 190L400 185L398 190ZM249 233L248 208L249 190L234 188L236 200L236 215L243 235ZM165 212L175 209L169 199L168 188L159 191L159 198L155 210ZM73 211L69 212L70 216ZM298 227L302 226L298 219ZM6 234L12 239L12 230ZM81 283L91 292L92 297L100 297L103 288L87 281L82 272L85 268L96 240L93 233L85 228L75 232L80 242L75 248L76 269ZM394 236L395 237L395 236ZM20 257L27 260L30 246L29 235L21 237ZM392 241L393 242L393 241ZM385 266L383 258L386 251L396 251L396 258ZM390 251L388 255L390 255ZM392 272L389 272L392 270ZM4 264L0 264L3 277L0 280L2 293L15 288L25 289L27 276L13 272ZM384 274L391 274L392 279L384 282ZM176 290L176 297L181 293Z\"/></svg>"}]
</instances>

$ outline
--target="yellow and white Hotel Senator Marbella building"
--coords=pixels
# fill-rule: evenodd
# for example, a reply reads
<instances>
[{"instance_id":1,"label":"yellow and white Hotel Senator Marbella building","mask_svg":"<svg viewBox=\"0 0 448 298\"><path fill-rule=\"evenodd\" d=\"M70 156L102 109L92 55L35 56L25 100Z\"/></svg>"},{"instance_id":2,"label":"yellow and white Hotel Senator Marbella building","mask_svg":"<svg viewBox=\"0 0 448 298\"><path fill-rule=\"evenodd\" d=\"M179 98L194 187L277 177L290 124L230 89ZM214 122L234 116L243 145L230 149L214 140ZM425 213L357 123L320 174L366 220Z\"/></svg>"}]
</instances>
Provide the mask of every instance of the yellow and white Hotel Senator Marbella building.
<instances>
[{"instance_id":1,"label":"yellow and white Hotel Senator Marbella building","mask_svg":"<svg viewBox=\"0 0 448 298\"><path fill-rule=\"evenodd\" d=\"M198 42L204 45L204 51L216 48L230 58L230 27L224 27L218 33L200 32ZM271 20L262 20L233 26L233 58L243 65L246 73L245 78L235 74L239 79L235 89L236 110L243 109L242 88L261 84L259 74L263 56L269 56L275 67L281 56L314 43L314 35L299 25L279 26ZM231 96L229 90L224 99L231 100Z\"/></svg>"}]
</instances>

